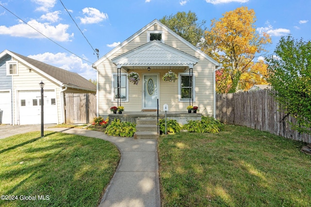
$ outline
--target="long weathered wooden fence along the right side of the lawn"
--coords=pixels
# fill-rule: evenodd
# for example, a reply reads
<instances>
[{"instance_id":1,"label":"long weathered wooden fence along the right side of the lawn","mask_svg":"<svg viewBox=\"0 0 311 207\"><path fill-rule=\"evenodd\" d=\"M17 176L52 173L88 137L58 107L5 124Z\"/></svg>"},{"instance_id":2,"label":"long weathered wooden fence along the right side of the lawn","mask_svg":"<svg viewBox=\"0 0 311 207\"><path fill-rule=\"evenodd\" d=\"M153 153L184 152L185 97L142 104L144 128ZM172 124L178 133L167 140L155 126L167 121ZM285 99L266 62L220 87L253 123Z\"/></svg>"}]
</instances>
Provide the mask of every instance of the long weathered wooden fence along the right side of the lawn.
<instances>
[{"instance_id":1,"label":"long weathered wooden fence along the right side of the lawn","mask_svg":"<svg viewBox=\"0 0 311 207\"><path fill-rule=\"evenodd\" d=\"M291 129L294 117L279 110L270 90L216 95L216 118L225 124L251 127L289 139L311 143L311 135Z\"/></svg>"}]
</instances>

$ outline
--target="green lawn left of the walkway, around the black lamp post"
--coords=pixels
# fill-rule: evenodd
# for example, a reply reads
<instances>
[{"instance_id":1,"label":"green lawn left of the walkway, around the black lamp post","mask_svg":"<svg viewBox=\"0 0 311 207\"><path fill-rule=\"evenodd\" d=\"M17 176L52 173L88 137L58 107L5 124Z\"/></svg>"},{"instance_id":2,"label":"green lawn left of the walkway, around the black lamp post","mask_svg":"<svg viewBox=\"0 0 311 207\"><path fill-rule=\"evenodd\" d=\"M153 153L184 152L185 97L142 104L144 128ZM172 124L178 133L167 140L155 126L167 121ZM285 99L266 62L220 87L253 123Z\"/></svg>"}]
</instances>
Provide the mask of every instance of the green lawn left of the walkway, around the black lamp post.
<instances>
[{"instance_id":1,"label":"green lawn left of the walkway, around the black lamp post","mask_svg":"<svg viewBox=\"0 0 311 207\"><path fill-rule=\"evenodd\" d=\"M96 207L120 160L116 146L104 140L46 131L0 140L1 207ZM20 200L23 195L35 201ZM44 196L49 200L38 200Z\"/></svg>"}]
</instances>

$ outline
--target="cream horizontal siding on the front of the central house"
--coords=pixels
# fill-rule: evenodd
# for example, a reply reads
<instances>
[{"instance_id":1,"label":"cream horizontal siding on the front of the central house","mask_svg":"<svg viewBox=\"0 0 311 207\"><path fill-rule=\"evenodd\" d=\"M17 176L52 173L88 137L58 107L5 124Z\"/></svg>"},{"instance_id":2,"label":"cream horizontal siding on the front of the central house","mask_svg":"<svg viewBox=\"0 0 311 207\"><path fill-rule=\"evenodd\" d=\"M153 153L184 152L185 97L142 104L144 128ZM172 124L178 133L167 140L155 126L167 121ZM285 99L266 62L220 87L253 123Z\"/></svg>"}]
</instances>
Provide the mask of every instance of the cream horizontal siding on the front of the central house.
<instances>
[{"instance_id":1,"label":"cream horizontal siding on the front of the central house","mask_svg":"<svg viewBox=\"0 0 311 207\"><path fill-rule=\"evenodd\" d=\"M154 30L154 26L151 26L145 32L142 32L137 37L132 39L130 42L126 43L122 48L114 51L113 53L107 56L107 59L103 60L102 63L98 64L97 69L99 71L98 82L99 82L99 91L98 91L98 106L99 106L99 115L107 115L110 113L110 107L116 105L116 102L111 100L111 91L112 91L112 74L117 74L117 66L111 62L111 59L124 54L132 49L138 48L141 45L146 44L148 36L152 32L163 32L161 38L164 40L165 44L181 50L189 55L192 55L199 59L199 62L193 66L194 75L194 85L193 85L193 95L195 105L199 107L199 112L204 114L213 114L214 107L214 86L213 86L213 73L215 65L209 62L205 56L195 50L190 48L188 45L181 42L179 39L175 38L169 32L166 32L164 28L161 28L160 25L157 26L157 31ZM157 69L152 67L150 73L159 74L159 105L160 110L163 109L164 104L169 105L170 111L187 111L187 106L189 105L189 99L180 101L179 96L179 74L185 73L189 75L189 71L176 70L171 68L173 72L178 74L178 80L175 82L163 81L162 77L167 73L170 68L167 69ZM142 70L138 68L131 68L129 71L125 71L121 68L122 73L129 73L131 71L138 72L140 76L140 81L138 85L129 83L128 86L128 102L123 102L124 111L141 111L142 110L142 74L146 73L147 70ZM187 73L188 72L188 73Z\"/></svg>"}]
</instances>

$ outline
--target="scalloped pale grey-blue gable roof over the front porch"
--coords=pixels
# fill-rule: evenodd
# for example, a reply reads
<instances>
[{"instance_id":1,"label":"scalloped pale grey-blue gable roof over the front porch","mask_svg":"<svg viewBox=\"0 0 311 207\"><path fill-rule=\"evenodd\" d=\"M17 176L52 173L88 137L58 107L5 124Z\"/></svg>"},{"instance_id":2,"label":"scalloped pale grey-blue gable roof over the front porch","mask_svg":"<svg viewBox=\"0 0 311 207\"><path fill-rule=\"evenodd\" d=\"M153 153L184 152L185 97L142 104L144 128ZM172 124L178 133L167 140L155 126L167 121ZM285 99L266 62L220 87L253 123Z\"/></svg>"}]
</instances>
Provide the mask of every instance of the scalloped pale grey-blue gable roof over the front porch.
<instances>
[{"instance_id":1,"label":"scalloped pale grey-blue gable roof over the front porch","mask_svg":"<svg viewBox=\"0 0 311 207\"><path fill-rule=\"evenodd\" d=\"M192 67L199 59L183 51L172 48L157 40L148 42L138 48L130 50L116 58L112 63L121 66L166 66L184 65Z\"/></svg>"}]
</instances>

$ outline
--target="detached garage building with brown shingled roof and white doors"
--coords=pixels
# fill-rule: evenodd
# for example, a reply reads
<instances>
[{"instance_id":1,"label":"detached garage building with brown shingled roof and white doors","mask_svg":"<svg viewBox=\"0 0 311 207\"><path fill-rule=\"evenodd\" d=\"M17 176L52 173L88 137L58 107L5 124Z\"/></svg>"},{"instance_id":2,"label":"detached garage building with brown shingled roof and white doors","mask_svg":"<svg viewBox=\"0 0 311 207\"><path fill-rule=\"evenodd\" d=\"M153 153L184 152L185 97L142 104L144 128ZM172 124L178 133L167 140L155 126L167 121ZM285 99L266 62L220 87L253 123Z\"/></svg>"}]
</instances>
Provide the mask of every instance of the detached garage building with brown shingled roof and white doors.
<instances>
[{"instance_id":1,"label":"detached garage building with brown shingled roof and white doors","mask_svg":"<svg viewBox=\"0 0 311 207\"><path fill-rule=\"evenodd\" d=\"M64 123L65 93L96 93L96 86L76 73L4 50L0 53L2 124L41 123L41 81L44 124Z\"/></svg>"}]
</instances>

